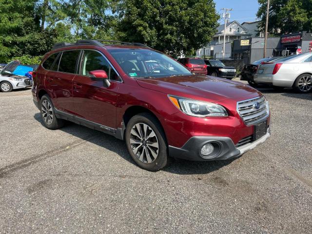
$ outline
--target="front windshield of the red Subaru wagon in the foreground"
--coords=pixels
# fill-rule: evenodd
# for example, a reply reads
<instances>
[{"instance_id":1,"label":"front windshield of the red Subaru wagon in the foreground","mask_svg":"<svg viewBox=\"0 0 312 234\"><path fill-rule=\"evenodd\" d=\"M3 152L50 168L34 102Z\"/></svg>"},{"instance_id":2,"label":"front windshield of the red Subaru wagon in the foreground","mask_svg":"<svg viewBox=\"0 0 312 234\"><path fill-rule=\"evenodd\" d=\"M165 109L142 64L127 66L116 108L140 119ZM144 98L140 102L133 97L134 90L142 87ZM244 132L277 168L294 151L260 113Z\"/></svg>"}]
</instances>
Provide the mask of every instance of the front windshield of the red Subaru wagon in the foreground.
<instances>
[{"instance_id":1,"label":"front windshield of the red Subaru wagon in the foreground","mask_svg":"<svg viewBox=\"0 0 312 234\"><path fill-rule=\"evenodd\" d=\"M108 52L129 77L162 78L192 75L176 60L154 50L112 49Z\"/></svg>"}]
</instances>

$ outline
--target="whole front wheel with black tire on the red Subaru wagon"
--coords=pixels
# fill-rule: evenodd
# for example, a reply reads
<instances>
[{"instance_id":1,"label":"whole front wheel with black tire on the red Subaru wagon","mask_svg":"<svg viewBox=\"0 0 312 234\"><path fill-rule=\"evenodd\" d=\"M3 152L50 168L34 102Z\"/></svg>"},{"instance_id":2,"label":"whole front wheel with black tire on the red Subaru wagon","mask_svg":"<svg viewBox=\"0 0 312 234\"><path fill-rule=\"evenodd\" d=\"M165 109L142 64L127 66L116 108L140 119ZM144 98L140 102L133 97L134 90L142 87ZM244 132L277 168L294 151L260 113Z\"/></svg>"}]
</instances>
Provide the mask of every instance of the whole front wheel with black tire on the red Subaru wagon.
<instances>
[{"instance_id":1,"label":"whole front wheel with black tire on the red Subaru wagon","mask_svg":"<svg viewBox=\"0 0 312 234\"><path fill-rule=\"evenodd\" d=\"M129 154L139 167L158 171L171 161L164 131L153 115L141 113L132 117L125 138Z\"/></svg>"}]
</instances>

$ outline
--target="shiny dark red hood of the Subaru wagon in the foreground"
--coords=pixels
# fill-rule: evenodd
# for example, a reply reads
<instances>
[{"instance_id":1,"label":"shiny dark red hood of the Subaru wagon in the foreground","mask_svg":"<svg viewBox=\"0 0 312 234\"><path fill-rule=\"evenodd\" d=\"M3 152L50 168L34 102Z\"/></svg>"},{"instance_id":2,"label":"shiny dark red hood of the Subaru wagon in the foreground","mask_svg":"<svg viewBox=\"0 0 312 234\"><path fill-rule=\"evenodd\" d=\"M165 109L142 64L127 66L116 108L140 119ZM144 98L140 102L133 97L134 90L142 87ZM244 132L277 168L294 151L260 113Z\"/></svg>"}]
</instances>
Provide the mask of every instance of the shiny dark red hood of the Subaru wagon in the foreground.
<instances>
[{"instance_id":1,"label":"shiny dark red hood of the Subaru wagon in the foreground","mask_svg":"<svg viewBox=\"0 0 312 234\"><path fill-rule=\"evenodd\" d=\"M137 78L137 83L141 87L158 92L184 98L200 98L209 102L227 98L238 101L261 95L259 91L241 82L200 75Z\"/></svg>"}]
</instances>

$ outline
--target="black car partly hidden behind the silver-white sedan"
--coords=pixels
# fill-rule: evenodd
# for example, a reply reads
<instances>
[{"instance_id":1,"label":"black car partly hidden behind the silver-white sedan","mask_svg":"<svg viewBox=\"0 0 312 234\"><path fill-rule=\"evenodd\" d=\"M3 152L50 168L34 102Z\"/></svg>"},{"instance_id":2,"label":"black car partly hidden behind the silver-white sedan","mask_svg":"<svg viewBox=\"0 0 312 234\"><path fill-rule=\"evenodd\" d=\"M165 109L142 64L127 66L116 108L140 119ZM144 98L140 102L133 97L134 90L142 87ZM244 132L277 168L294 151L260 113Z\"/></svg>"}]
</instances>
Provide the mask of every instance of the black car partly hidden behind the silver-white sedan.
<instances>
[{"instance_id":1,"label":"black car partly hidden behind the silver-white sedan","mask_svg":"<svg viewBox=\"0 0 312 234\"><path fill-rule=\"evenodd\" d=\"M254 75L256 74L259 65L264 64L266 62L271 62L279 58L280 57L265 58L265 59L254 61L252 64L244 65L243 70L240 74L241 75L240 80L246 80L248 81L249 85L251 85L252 87L257 87L257 84L254 82Z\"/></svg>"}]
</instances>

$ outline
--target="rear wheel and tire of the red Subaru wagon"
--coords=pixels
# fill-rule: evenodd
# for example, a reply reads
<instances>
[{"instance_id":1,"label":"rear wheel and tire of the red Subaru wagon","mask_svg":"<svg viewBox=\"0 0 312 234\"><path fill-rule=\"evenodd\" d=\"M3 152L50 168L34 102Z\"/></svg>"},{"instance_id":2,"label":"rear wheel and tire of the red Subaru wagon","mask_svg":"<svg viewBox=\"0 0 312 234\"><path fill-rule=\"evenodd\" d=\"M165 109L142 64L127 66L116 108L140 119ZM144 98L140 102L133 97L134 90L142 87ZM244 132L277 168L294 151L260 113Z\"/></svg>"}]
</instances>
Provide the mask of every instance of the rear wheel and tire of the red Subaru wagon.
<instances>
[{"instance_id":1,"label":"rear wheel and tire of the red Subaru wagon","mask_svg":"<svg viewBox=\"0 0 312 234\"><path fill-rule=\"evenodd\" d=\"M43 125L46 128L55 130L64 126L65 120L56 117L52 101L48 95L42 96L39 107Z\"/></svg>"}]
</instances>

